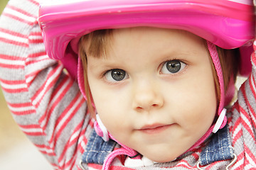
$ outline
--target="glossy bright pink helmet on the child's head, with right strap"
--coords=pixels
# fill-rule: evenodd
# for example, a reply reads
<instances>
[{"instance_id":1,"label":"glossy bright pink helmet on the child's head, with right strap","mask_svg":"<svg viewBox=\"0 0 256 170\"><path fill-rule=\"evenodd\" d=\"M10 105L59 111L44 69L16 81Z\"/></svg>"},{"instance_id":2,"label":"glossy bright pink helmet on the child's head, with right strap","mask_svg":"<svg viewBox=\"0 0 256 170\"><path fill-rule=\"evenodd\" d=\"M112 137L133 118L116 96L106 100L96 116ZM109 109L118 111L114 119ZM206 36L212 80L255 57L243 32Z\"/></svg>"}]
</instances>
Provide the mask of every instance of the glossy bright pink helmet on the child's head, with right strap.
<instances>
[{"instance_id":1,"label":"glossy bright pink helmet on the child's head, with right strap","mask_svg":"<svg viewBox=\"0 0 256 170\"><path fill-rule=\"evenodd\" d=\"M240 47L240 74L251 71L250 53L255 37L252 0L70 0L41 4L39 24L49 57L63 62L83 88L78 42L94 30L151 26L187 30L208 41L208 49L220 82L218 115L223 117L225 96L223 75L215 45ZM83 93L84 94L84 93ZM225 125L225 115L219 127ZM213 127L214 128L214 127ZM201 138L199 145L213 128ZM217 130L218 130L217 128Z\"/></svg>"}]
</instances>

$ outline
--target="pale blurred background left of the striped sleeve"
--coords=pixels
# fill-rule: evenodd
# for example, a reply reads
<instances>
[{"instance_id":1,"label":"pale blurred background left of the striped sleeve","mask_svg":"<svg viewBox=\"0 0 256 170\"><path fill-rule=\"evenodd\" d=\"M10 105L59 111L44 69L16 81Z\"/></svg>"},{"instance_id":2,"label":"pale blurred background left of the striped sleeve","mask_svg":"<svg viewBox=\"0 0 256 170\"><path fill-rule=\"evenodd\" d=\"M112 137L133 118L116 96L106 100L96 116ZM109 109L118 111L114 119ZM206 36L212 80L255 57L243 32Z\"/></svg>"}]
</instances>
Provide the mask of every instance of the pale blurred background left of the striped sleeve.
<instances>
[{"instance_id":1,"label":"pale blurred background left of the striped sleeve","mask_svg":"<svg viewBox=\"0 0 256 170\"><path fill-rule=\"evenodd\" d=\"M0 0L0 14L8 0ZM0 89L0 170L50 170L40 152L18 129Z\"/></svg>"}]
</instances>

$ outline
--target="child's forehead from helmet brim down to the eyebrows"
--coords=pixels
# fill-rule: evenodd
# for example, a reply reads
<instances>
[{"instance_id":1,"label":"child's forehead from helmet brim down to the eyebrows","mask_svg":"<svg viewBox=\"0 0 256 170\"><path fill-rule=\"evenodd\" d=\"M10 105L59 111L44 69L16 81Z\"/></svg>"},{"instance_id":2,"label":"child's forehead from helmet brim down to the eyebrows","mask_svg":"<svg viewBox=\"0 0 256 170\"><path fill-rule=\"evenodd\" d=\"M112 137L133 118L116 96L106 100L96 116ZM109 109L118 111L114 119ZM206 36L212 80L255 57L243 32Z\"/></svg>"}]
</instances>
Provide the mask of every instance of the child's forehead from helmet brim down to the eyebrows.
<instances>
[{"instance_id":1,"label":"child's forehead from helmet brim down to the eyebrows","mask_svg":"<svg viewBox=\"0 0 256 170\"><path fill-rule=\"evenodd\" d=\"M106 43L105 57L87 55L90 65L123 63L124 66L132 63L135 66L142 62L149 64L175 59L196 62L200 57L209 56L205 41L183 30L147 27L117 29L112 31Z\"/></svg>"}]
</instances>

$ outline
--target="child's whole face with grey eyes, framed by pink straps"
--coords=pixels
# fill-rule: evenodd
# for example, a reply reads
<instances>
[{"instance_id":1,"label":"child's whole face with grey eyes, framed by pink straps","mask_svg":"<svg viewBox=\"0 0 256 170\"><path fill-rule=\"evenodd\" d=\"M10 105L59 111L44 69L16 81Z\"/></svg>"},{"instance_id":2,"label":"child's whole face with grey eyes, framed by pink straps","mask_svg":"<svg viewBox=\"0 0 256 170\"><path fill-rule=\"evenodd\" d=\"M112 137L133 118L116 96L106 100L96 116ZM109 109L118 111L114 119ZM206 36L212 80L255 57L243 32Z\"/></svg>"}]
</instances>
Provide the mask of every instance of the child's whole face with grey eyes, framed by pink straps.
<instances>
[{"instance_id":1,"label":"child's whole face with grey eyes, framed by pink straps","mask_svg":"<svg viewBox=\"0 0 256 170\"><path fill-rule=\"evenodd\" d=\"M186 152L210 128L217 98L204 40L162 28L113 30L102 58L87 55L92 98L107 130L155 161Z\"/></svg>"}]
</instances>

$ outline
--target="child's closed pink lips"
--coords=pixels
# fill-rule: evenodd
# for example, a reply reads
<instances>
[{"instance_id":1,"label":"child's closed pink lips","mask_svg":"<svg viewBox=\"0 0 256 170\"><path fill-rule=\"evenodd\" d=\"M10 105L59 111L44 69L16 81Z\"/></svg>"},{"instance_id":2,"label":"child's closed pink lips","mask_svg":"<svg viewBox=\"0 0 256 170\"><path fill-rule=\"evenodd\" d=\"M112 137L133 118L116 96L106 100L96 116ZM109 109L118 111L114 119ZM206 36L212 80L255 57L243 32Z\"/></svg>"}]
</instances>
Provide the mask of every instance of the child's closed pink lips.
<instances>
[{"instance_id":1,"label":"child's closed pink lips","mask_svg":"<svg viewBox=\"0 0 256 170\"><path fill-rule=\"evenodd\" d=\"M139 129L140 132L144 132L146 134L155 134L162 132L168 128L170 128L171 125L163 125L163 124L153 124L153 125L144 125L142 128Z\"/></svg>"}]
</instances>

